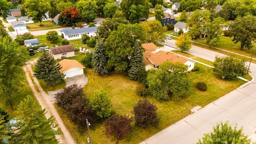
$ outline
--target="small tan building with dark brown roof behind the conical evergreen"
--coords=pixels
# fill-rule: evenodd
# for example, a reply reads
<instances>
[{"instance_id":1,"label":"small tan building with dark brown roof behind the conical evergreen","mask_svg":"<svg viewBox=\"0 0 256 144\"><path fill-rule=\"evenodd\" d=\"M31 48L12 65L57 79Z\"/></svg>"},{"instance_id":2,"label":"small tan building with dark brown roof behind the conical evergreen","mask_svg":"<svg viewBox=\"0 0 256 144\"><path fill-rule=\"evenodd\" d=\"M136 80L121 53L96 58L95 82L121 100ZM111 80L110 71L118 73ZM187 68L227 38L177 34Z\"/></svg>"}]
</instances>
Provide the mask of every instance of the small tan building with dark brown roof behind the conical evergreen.
<instances>
[{"instance_id":1,"label":"small tan building with dark brown roof behind the conical evergreen","mask_svg":"<svg viewBox=\"0 0 256 144\"><path fill-rule=\"evenodd\" d=\"M66 46L50 48L49 53L55 60L58 60L75 56L75 49L71 44L69 44Z\"/></svg>"}]
</instances>

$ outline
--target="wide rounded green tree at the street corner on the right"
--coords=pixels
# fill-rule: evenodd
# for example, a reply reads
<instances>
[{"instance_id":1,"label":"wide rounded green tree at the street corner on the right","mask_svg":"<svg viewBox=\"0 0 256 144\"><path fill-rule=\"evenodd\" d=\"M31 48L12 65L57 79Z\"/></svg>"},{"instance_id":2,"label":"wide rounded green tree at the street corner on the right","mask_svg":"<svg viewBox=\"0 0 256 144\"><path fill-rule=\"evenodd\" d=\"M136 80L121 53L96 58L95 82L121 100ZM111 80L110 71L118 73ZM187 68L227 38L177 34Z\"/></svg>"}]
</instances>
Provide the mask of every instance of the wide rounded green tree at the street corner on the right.
<instances>
[{"instance_id":1,"label":"wide rounded green tree at the street corner on the right","mask_svg":"<svg viewBox=\"0 0 256 144\"><path fill-rule=\"evenodd\" d=\"M239 59L234 55L215 57L213 72L216 76L225 80L232 80L238 76L246 75L248 70L246 60Z\"/></svg>"}]
</instances>

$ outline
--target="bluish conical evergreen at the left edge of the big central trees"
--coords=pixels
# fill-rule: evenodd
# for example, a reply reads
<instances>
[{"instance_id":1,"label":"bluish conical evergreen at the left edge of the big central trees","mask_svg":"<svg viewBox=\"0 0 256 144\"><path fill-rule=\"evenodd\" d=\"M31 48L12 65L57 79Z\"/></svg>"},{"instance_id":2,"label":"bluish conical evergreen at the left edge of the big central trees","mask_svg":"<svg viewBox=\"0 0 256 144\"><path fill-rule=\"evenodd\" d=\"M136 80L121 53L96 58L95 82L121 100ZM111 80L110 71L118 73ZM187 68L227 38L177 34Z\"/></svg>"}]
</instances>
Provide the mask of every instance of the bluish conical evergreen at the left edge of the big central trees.
<instances>
[{"instance_id":1,"label":"bluish conical evergreen at the left edge of the big central trees","mask_svg":"<svg viewBox=\"0 0 256 144\"><path fill-rule=\"evenodd\" d=\"M108 73L107 58L103 47L103 41L97 42L94 48L94 54L92 56L94 73L96 74L106 74Z\"/></svg>"}]
</instances>

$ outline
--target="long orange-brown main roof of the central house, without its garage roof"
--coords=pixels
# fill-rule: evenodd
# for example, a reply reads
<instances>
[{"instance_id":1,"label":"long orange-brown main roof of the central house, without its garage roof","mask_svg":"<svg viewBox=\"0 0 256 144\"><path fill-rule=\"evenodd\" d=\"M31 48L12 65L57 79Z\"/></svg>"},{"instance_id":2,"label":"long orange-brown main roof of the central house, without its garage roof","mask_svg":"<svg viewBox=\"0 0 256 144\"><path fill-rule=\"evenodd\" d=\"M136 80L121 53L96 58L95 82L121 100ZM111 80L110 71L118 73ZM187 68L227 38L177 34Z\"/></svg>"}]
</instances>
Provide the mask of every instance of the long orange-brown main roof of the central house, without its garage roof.
<instances>
[{"instance_id":1,"label":"long orange-brown main roof of the central house, without its garage roof","mask_svg":"<svg viewBox=\"0 0 256 144\"><path fill-rule=\"evenodd\" d=\"M144 57L144 63L146 65L148 65L147 64L148 62L145 60L145 58L148 59L148 61L152 62L155 66L158 66L167 61L168 62L181 62L183 64L185 64L185 62L188 61L188 59L186 59L186 58L177 56L172 53L164 52L162 50L160 50L159 52L157 52L155 54L152 52L146 51L146 52L144 52L143 57Z\"/></svg>"}]
</instances>

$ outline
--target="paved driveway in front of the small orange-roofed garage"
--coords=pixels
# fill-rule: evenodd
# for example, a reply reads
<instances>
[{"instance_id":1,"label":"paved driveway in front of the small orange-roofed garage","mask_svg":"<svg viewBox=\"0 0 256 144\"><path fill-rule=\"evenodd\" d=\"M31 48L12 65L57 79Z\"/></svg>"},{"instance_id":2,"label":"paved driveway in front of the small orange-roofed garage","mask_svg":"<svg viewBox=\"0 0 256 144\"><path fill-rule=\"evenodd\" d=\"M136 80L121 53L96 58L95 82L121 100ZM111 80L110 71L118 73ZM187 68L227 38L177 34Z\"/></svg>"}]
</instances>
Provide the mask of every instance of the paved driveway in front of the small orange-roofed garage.
<instances>
[{"instance_id":1,"label":"paved driveway in front of the small orange-roofed garage","mask_svg":"<svg viewBox=\"0 0 256 144\"><path fill-rule=\"evenodd\" d=\"M66 78L64 79L65 82L66 82L66 87L67 86L70 86L72 84L77 84L78 86L81 86L82 88L87 84L88 82L88 78L82 74L80 76L74 76L74 77L71 77L71 78ZM48 91L48 94L50 95L50 97L54 99L54 95L58 92L60 92L62 89L60 90L55 90L55 91Z\"/></svg>"}]
</instances>

